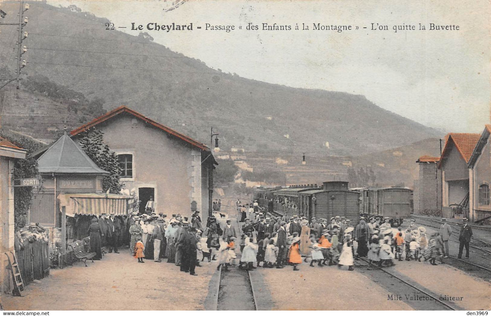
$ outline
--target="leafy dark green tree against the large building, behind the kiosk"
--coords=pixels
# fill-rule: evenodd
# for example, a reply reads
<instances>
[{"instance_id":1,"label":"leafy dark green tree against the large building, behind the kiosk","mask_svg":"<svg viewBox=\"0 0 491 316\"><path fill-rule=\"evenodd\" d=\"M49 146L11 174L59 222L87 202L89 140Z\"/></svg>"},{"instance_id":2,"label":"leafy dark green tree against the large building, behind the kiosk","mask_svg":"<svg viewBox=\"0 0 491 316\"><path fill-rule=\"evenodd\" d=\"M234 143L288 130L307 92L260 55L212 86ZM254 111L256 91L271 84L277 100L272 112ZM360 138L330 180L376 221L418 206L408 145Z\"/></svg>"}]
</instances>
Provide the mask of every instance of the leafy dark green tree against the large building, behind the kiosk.
<instances>
[{"instance_id":1,"label":"leafy dark green tree against the large building, behind the kiosk","mask_svg":"<svg viewBox=\"0 0 491 316\"><path fill-rule=\"evenodd\" d=\"M119 193L123 187L123 184L119 182L122 169L114 151L111 151L109 146L104 144L104 133L95 128L83 132L80 146L99 168L109 172L109 175L102 180L103 190Z\"/></svg>"}]
</instances>

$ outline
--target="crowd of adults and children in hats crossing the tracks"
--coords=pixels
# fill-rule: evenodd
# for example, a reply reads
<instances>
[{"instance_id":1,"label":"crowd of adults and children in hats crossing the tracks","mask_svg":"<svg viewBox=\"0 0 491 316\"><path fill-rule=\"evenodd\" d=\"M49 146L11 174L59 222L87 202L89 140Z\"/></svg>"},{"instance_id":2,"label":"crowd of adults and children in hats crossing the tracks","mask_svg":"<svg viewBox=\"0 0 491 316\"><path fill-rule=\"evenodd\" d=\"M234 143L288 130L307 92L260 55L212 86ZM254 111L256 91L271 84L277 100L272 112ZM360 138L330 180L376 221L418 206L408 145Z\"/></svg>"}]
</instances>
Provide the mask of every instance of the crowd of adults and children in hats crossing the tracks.
<instances>
[{"instance_id":1,"label":"crowd of adults and children in hats crossing the tracks","mask_svg":"<svg viewBox=\"0 0 491 316\"><path fill-rule=\"evenodd\" d=\"M409 227L393 229L388 217L371 217L369 221L360 217L353 227L350 219L343 216L329 220L313 217L310 221L297 215L288 217L287 212L283 216L269 216L254 202L237 203L237 209L241 213L242 231L236 229L230 219L221 227L214 216L203 226L198 211L191 215L190 221L180 214L172 214L167 221L162 213L135 212L128 217L125 228L115 224L114 214L109 218L102 214L99 219L92 219L88 229L90 248L97 253L94 259L102 259L103 246L109 247L109 252L119 253L119 235L126 229L130 236L130 253L137 262L166 259L191 275L197 275L195 266L200 266L204 259L217 260L217 269L221 266L225 271L237 263L246 270L281 269L286 265L299 270L302 262L309 261L310 266L337 265L351 271L356 257L367 258L372 265L382 267L395 265L394 260L402 261L403 257L405 260L424 259L436 265L436 259L443 262L448 256L451 229L445 219L439 232L427 236L426 229L416 227L413 219ZM472 235L466 223L464 219L460 238L464 239L464 246ZM464 246L460 248L459 258ZM466 250L468 258L468 246ZM241 256L236 262L239 252Z\"/></svg>"}]
</instances>

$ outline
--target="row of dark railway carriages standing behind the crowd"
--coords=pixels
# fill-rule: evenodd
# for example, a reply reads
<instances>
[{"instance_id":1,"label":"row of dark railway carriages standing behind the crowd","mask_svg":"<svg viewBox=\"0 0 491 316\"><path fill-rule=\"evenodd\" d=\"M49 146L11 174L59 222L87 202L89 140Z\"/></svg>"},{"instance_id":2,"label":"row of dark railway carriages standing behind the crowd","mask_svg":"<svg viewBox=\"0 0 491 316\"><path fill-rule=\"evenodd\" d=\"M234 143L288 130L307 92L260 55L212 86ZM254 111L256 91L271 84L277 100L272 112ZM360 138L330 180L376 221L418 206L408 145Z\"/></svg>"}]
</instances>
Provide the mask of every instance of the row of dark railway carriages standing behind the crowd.
<instances>
[{"instance_id":1,"label":"row of dark railway carriages standing behind the crowd","mask_svg":"<svg viewBox=\"0 0 491 316\"><path fill-rule=\"evenodd\" d=\"M262 208L270 213L327 218L339 215L358 223L360 216L388 216L400 226L410 216L412 190L401 187L348 188L346 181L326 181L289 187L257 187L253 192Z\"/></svg>"}]
</instances>

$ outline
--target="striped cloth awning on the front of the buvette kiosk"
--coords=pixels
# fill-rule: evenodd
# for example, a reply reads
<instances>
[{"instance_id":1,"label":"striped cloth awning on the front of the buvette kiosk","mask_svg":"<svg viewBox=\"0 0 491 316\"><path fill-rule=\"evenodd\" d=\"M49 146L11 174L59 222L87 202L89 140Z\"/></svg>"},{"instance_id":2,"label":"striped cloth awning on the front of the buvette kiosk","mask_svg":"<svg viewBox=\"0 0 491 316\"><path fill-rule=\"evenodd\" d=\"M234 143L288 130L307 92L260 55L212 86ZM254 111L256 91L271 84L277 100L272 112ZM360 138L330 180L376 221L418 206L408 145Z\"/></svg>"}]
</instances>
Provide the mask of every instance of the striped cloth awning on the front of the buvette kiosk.
<instances>
[{"instance_id":1,"label":"striped cloth awning on the front of the buvette kiosk","mask_svg":"<svg viewBox=\"0 0 491 316\"><path fill-rule=\"evenodd\" d=\"M67 215L101 215L114 213L126 215L130 197L105 193L62 193L58 195L60 207L65 206Z\"/></svg>"}]
</instances>

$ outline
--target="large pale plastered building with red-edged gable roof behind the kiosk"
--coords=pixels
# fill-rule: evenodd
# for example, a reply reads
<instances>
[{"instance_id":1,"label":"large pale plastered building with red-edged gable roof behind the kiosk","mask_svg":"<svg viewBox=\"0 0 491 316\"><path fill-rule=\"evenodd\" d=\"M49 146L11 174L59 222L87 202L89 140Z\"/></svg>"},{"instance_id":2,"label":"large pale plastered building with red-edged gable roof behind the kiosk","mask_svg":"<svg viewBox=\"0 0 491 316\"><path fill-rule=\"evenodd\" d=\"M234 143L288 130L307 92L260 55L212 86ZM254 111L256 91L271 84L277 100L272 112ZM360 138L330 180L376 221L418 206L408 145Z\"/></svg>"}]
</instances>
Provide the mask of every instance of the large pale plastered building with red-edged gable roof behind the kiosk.
<instances>
[{"instance_id":1,"label":"large pale plastered building with red-edged gable roof behind the kiosk","mask_svg":"<svg viewBox=\"0 0 491 316\"><path fill-rule=\"evenodd\" d=\"M104 132L104 142L118 155L124 189L136 192L140 211L153 198L158 213L189 216L192 203L206 218L212 203L213 169L218 165L210 148L125 106L71 135L80 141L82 133L93 127Z\"/></svg>"}]
</instances>

